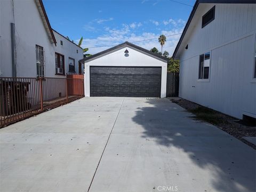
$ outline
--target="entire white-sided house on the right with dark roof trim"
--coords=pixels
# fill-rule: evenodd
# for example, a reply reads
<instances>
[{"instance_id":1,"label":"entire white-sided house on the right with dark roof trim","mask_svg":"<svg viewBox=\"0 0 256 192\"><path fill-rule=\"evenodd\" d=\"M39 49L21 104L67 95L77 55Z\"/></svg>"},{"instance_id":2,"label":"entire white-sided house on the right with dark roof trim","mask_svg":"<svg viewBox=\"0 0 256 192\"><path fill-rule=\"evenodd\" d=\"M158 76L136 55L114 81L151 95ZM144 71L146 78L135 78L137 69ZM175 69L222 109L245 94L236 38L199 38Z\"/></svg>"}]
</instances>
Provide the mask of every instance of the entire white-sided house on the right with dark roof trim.
<instances>
[{"instance_id":1,"label":"entire white-sided house on the right with dark roof trim","mask_svg":"<svg viewBox=\"0 0 256 192\"><path fill-rule=\"evenodd\" d=\"M197 0L173 53L179 96L256 118L256 1Z\"/></svg>"}]
</instances>

